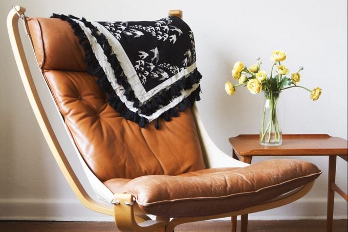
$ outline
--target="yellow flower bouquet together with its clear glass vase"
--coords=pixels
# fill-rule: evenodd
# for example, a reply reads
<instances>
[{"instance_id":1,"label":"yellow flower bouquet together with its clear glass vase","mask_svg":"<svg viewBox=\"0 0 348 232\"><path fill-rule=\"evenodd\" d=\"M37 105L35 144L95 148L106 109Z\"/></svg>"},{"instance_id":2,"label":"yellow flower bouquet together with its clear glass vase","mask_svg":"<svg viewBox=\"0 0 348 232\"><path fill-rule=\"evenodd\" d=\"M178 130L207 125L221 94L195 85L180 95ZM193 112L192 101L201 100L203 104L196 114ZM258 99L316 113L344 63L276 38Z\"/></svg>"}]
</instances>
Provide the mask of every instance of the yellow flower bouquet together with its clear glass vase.
<instances>
[{"instance_id":1,"label":"yellow flower bouquet together with its clear glass vase","mask_svg":"<svg viewBox=\"0 0 348 232\"><path fill-rule=\"evenodd\" d=\"M228 95L234 94L235 89L240 86L246 86L252 94L264 92L260 123L260 144L262 145L281 144L281 113L277 112L281 110L278 107L281 91L295 87L302 88L311 93L310 97L314 101L321 95L319 87L310 90L297 85L301 79L299 72L303 70L303 67L292 73L290 77L286 76L290 71L281 64L281 61L284 61L286 58L287 56L282 50L272 52L271 61L273 61L273 64L270 76L267 76L266 72L260 68L262 61L259 57L256 59L256 64L249 68L245 67L243 62L237 61L233 66L232 77L238 80L238 84L233 85L229 81L225 83L225 90ZM274 72L275 75L273 76Z\"/></svg>"}]
</instances>

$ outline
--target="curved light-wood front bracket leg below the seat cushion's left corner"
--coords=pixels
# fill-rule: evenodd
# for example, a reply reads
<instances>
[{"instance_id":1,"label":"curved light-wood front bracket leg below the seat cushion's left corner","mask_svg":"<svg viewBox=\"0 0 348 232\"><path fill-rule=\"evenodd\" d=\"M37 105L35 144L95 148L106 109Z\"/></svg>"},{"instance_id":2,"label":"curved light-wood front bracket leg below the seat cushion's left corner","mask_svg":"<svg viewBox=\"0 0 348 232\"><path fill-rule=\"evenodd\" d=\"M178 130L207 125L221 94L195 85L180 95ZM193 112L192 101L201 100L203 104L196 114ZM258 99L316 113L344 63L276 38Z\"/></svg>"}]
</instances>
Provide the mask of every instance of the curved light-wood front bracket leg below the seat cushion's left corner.
<instances>
[{"instance_id":1,"label":"curved light-wood front bracket leg below the seat cushion's left corner","mask_svg":"<svg viewBox=\"0 0 348 232\"><path fill-rule=\"evenodd\" d=\"M147 220L137 223L134 215L133 196L130 194L115 194L114 195L114 214L115 223L121 231L136 231L136 232L164 232L165 225L162 221Z\"/></svg>"}]
</instances>

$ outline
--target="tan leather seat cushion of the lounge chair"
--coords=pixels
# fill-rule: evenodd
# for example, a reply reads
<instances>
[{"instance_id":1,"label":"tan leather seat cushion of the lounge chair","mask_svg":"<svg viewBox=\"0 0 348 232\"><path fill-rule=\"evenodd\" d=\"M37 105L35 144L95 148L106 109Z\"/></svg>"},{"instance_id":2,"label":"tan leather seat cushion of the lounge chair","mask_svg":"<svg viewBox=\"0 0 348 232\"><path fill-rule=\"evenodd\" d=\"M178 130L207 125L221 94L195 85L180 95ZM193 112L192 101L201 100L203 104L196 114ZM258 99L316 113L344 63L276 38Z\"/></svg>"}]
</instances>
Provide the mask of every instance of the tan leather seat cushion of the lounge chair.
<instances>
[{"instance_id":1,"label":"tan leather seat cushion of the lounge chair","mask_svg":"<svg viewBox=\"0 0 348 232\"><path fill-rule=\"evenodd\" d=\"M112 179L104 184L113 193L132 194L148 214L190 217L233 212L269 201L315 180L320 173L306 161L274 159L247 167L149 175L123 182Z\"/></svg>"}]
</instances>

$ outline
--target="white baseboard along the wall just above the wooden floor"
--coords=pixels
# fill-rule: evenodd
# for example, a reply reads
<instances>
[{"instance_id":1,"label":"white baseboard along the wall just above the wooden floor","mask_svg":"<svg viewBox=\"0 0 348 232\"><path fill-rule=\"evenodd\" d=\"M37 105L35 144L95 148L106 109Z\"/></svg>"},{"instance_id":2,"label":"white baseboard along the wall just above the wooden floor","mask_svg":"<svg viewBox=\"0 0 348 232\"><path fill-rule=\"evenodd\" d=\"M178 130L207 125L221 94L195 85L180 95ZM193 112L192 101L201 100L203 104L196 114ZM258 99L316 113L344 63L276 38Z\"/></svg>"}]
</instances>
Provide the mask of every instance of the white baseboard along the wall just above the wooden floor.
<instances>
[{"instance_id":1,"label":"white baseboard along the wall just above the wooden floor","mask_svg":"<svg viewBox=\"0 0 348 232\"><path fill-rule=\"evenodd\" d=\"M326 202L326 199L298 200L250 214L249 220L324 220ZM335 199L334 219L347 219L347 203L342 198ZM114 221L114 218L95 213L75 199L0 199L0 220Z\"/></svg>"}]
</instances>

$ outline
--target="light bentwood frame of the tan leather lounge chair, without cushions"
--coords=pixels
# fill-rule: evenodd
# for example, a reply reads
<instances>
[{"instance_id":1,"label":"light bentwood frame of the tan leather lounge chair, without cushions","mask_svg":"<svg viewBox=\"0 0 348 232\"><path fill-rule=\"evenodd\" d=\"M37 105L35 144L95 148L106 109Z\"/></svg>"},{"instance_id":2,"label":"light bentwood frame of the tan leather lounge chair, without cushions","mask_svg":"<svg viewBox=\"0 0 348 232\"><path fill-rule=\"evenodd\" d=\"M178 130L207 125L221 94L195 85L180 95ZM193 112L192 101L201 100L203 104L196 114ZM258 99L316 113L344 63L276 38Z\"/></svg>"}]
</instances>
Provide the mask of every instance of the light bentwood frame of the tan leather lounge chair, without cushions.
<instances>
[{"instance_id":1,"label":"light bentwood frame of the tan leather lounge chair, without cushions","mask_svg":"<svg viewBox=\"0 0 348 232\"><path fill-rule=\"evenodd\" d=\"M18 29L18 20L21 18L26 24L26 18L24 15L25 8L16 6L9 12L7 17L7 27L8 33L11 41L12 50L16 60L16 64L19 70L21 80L23 82L26 94L30 101L31 107L34 111L35 117L38 121L40 129L45 136L45 139L50 147L50 150L58 163L58 166L63 173L64 177L68 181L70 187L72 188L76 197L80 202L98 212L105 215L110 215L115 217L115 222L117 227L121 231L167 231L172 232L173 229L183 223L223 218L223 217L232 217L232 222L235 221L237 215L245 215L250 213L255 213L271 208L276 208L282 205L286 205L297 199L305 196L310 189L312 188L314 181L303 185L300 188L295 189L294 191L282 195L276 199L273 199L270 202L262 203L256 206L248 207L242 210L235 212L230 212L227 214L212 215L205 217L184 217L184 218L163 218L157 217L156 220L150 220L146 216L145 212L142 212L137 206L137 203L134 201L133 196L130 194L115 194L113 204L100 203L94 200L84 189L81 182L77 178L76 174L73 171L66 155L64 154L56 135L52 129L52 126L48 120L48 116L45 112L44 107L42 106L41 100L39 98L38 92L36 90L34 80L26 59L25 50L20 40L19 29ZM182 11L174 10L169 12L170 15L175 15L181 17ZM25 25L26 26L26 25ZM26 31L27 32L27 31ZM28 34L28 32L27 32ZM29 35L29 34L28 34ZM30 35L29 35L30 37ZM221 152L211 141L207 132L204 129L203 123L199 117L197 107L193 107L193 112L195 120L197 123L198 133L202 144L203 154L205 162L208 166L221 166L221 164L229 165L235 163L231 157L227 156ZM214 154L214 158L209 154ZM219 162L216 161L219 160ZM220 164L219 164L220 163ZM247 223L247 222L245 222ZM242 226L242 228L246 226ZM235 225L232 225L232 230L235 230Z\"/></svg>"}]
</instances>

